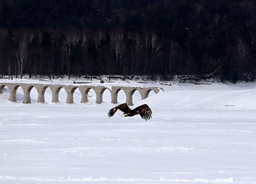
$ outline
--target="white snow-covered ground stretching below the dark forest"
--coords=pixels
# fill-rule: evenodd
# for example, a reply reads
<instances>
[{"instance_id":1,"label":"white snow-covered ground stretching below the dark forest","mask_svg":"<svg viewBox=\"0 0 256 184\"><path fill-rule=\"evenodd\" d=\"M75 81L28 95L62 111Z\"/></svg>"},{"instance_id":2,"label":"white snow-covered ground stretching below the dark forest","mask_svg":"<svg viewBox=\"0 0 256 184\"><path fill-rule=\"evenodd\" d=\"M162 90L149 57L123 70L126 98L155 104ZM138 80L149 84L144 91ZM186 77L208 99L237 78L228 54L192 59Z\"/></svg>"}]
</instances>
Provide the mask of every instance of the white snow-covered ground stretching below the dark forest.
<instances>
[{"instance_id":1,"label":"white snow-covered ground stretching below the dark forest","mask_svg":"<svg viewBox=\"0 0 256 184\"><path fill-rule=\"evenodd\" d=\"M2 80L61 83L70 81ZM84 85L84 84L83 84ZM209 85L114 82L88 85L158 86L134 106L147 103L153 118L109 118L110 92L95 104L95 93L81 104L23 104L0 94L0 183L256 183L256 84ZM123 91L119 103L125 102Z\"/></svg>"}]
</instances>

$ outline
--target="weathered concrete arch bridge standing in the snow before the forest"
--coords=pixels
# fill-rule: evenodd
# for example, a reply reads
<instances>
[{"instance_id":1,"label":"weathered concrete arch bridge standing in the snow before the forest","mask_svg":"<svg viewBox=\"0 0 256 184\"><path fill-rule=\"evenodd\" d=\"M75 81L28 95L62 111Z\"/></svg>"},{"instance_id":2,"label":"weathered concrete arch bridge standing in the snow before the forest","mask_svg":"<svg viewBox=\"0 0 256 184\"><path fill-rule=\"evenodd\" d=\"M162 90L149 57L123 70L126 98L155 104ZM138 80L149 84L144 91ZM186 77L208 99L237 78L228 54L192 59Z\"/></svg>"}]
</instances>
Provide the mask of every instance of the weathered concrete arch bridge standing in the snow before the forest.
<instances>
[{"instance_id":1,"label":"weathered concrete arch bridge standing in the snow before the forest","mask_svg":"<svg viewBox=\"0 0 256 184\"><path fill-rule=\"evenodd\" d=\"M112 86L111 89L109 89L106 86L92 86L92 85L53 85L53 84L23 84L23 83L0 83L0 94L3 93L4 87L7 87L10 92L10 101L17 101L17 89L18 87L21 87L23 90L23 99L22 103L31 103L30 98L30 91L35 87L35 89L38 92L38 103L44 103L45 102L45 90L47 88L51 89L52 92L52 102L59 102L59 92L63 88L65 89L67 93L67 100L66 103L74 103L73 95L75 90L78 88L81 92L81 103L85 103L88 101L88 92L89 90L94 90L96 94L96 103L101 103L102 101L102 95L105 90L109 90L111 93L111 102L117 103L117 96L118 92L120 90L123 90L126 95L126 103L127 105L131 106L133 105L132 102L132 95L133 93L138 90L141 95L141 100L148 97L150 91L154 91L156 94L163 90L162 88L158 87L125 87L125 86Z\"/></svg>"}]
</instances>

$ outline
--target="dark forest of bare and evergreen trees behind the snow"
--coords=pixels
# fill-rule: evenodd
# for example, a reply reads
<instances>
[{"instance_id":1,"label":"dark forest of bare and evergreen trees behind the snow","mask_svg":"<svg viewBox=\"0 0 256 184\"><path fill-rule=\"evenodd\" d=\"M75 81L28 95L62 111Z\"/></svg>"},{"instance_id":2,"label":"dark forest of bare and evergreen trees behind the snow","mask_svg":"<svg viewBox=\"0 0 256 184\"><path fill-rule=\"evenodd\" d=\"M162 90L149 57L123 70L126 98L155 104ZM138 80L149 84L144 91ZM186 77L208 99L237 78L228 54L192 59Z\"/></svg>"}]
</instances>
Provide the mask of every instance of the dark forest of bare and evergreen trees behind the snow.
<instances>
[{"instance_id":1,"label":"dark forest of bare and evergreen trees behind the snow","mask_svg":"<svg viewBox=\"0 0 256 184\"><path fill-rule=\"evenodd\" d=\"M0 75L254 81L254 0L2 0Z\"/></svg>"}]
</instances>

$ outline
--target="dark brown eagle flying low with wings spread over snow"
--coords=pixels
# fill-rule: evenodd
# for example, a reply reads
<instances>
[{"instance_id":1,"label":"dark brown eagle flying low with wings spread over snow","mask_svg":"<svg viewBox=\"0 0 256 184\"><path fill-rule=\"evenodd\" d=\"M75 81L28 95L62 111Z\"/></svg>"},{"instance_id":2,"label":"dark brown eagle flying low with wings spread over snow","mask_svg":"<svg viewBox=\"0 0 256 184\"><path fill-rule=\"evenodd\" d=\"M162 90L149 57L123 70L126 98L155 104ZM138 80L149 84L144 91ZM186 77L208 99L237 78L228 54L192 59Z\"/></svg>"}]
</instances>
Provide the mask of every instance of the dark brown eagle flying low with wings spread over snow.
<instances>
[{"instance_id":1,"label":"dark brown eagle flying low with wings spread over snow","mask_svg":"<svg viewBox=\"0 0 256 184\"><path fill-rule=\"evenodd\" d=\"M121 105L110 109L108 111L108 116L113 116L118 109L124 112L124 117L140 114L141 118L145 119L146 121L150 119L152 115L152 111L147 104L143 104L135 109L130 109L126 103L122 103Z\"/></svg>"}]
</instances>

